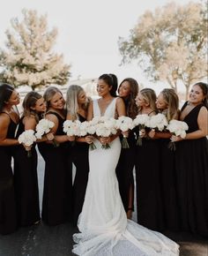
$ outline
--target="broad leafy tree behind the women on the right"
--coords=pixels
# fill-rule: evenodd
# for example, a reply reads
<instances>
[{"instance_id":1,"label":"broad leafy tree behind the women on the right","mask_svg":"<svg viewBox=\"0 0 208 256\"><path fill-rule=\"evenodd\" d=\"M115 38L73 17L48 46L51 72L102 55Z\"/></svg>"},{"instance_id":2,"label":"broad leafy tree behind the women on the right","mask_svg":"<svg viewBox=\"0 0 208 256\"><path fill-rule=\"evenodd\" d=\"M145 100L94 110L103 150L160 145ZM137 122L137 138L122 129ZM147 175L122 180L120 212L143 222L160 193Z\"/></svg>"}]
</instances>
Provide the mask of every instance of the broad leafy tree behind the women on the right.
<instances>
[{"instance_id":1,"label":"broad leafy tree behind the women on the right","mask_svg":"<svg viewBox=\"0 0 208 256\"><path fill-rule=\"evenodd\" d=\"M123 64L137 59L153 80L163 80L175 88L186 88L207 78L207 5L170 3L146 11L130 30L128 40L119 38Z\"/></svg>"}]
</instances>

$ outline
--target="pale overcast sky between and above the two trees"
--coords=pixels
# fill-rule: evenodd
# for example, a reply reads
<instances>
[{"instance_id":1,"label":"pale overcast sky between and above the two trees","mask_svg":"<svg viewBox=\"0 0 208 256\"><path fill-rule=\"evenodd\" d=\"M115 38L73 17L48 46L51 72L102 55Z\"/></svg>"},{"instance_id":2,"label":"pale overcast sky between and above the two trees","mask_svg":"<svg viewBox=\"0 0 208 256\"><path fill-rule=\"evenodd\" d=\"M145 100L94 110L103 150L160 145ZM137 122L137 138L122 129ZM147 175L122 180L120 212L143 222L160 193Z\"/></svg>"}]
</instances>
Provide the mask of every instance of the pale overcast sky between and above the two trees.
<instances>
[{"instance_id":1,"label":"pale overcast sky between and above the two trees","mask_svg":"<svg viewBox=\"0 0 208 256\"><path fill-rule=\"evenodd\" d=\"M197 2L199 0L195 0ZM120 65L119 36L128 38L130 29L145 11L154 11L168 0L0 0L0 47L4 47L7 28L12 18L23 19L21 10L33 9L47 14L48 29L56 27L55 51L71 64L72 79L98 78L103 73L115 73L119 81L126 77L137 79L152 87L149 78L133 64ZM189 0L175 0L188 4ZM4 6L4 7L3 7Z\"/></svg>"}]
</instances>

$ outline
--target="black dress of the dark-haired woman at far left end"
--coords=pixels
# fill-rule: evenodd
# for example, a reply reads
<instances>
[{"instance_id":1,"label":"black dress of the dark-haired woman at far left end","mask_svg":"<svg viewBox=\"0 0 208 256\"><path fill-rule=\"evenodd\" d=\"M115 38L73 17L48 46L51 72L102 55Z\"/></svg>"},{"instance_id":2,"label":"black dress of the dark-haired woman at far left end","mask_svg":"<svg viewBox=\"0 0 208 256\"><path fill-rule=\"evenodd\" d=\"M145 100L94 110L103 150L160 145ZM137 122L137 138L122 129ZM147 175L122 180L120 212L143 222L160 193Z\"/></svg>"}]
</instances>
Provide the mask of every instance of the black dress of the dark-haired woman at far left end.
<instances>
[{"instance_id":1,"label":"black dress of the dark-haired woman at far left end","mask_svg":"<svg viewBox=\"0 0 208 256\"><path fill-rule=\"evenodd\" d=\"M12 120L8 127L8 139L14 139L17 124ZM13 147L0 146L0 234L9 234L17 229L16 201L11 169Z\"/></svg>"}]
</instances>

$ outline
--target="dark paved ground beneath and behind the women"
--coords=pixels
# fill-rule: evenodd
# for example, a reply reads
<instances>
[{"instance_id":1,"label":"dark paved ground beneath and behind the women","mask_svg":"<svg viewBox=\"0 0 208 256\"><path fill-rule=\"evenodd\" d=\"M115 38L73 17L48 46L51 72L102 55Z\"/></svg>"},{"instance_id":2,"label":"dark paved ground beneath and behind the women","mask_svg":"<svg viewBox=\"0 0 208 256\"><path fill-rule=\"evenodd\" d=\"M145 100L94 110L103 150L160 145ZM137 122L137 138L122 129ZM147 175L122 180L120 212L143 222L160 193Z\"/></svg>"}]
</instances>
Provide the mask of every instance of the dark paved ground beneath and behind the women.
<instances>
[{"instance_id":1,"label":"dark paved ground beneath and behind the women","mask_svg":"<svg viewBox=\"0 0 208 256\"><path fill-rule=\"evenodd\" d=\"M39 159L40 196L42 194L44 162ZM133 220L136 220L136 213ZM48 227L43 223L0 236L0 256L71 256L72 234L77 231L70 223ZM208 256L208 239L188 233L166 233L180 247L180 256ZM103 255L104 256L104 255ZM150 255L151 256L151 255Z\"/></svg>"}]
</instances>

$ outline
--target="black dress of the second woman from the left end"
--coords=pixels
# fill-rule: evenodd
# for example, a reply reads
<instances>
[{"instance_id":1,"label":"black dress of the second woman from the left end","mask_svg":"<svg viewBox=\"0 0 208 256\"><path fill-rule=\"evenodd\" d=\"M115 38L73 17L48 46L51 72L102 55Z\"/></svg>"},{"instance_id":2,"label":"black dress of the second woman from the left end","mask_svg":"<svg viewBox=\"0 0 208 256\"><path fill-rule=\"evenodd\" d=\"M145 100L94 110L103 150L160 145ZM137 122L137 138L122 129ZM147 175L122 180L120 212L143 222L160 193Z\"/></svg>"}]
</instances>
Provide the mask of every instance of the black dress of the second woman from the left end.
<instances>
[{"instance_id":1,"label":"black dress of the second woman from the left end","mask_svg":"<svg viewBox=\"0 0 208 256\"><path fill-rule=\"evenodd\" d=\"M17 138L25 131L22 123L23 117L19 122ZM17 198L17 211L19 226L30 226L39 222L39 186L37 175L37 152L35 143L31 148L31 156L27 156L25 147L19 145L14 151L14 187Z\"/></svg>"}]
</instances>

